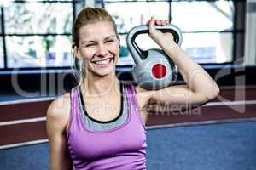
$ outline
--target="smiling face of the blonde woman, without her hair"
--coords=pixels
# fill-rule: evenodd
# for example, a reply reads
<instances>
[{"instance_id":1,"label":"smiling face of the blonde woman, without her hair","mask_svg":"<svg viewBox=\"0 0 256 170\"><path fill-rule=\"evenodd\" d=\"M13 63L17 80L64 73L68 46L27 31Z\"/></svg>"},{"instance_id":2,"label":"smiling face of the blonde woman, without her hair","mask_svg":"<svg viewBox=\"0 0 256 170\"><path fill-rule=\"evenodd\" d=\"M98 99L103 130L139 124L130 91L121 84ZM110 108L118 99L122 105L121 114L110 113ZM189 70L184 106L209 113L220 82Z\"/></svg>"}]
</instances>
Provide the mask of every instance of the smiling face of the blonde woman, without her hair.
<instances>
[{"instance_id":1,"label":"smiling face of the blonde woman, without her hair","mask_svg":"<svg viewBox=\"0 0 256 170\"><path fill-rule=\"evenodd\" d=\"M119 40L112 24L99 21L81 27L79 48L75 51L88 71L100 77L110 74L119 59Z\"/></svg>"}]
</instances>

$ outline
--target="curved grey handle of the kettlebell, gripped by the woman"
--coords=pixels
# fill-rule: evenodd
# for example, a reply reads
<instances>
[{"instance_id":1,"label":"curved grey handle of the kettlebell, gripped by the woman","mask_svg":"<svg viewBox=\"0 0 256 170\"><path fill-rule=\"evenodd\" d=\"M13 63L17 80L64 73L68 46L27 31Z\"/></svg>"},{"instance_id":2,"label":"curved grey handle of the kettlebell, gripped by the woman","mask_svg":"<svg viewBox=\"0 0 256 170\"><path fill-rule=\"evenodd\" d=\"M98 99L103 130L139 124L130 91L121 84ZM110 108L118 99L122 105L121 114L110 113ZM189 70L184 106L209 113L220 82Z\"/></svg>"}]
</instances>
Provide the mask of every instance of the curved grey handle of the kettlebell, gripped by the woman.
<instances>
[{"instance_id":1,"label":"curved grey handle of the kettlebell, gripped by the woman","mask_svg":"<svg viewBox=\"0 0 256 170\"><path fill-rule=\"evenodd\" d=\"M172 33L174 37L174 41L177 43L178 46L182 43L182 31L172 24L169 24L167 26L155 26L157 30L160 30L161 32L170 32ZM146 25L140 25L135 26L131 29L131 31L128 32L128 35L126 37L127 42L127 48L130 50L131 55L135 61L136 64L140 64L143 62L143 59L141 59L140 56L142 56L142 50L138 48L137 43L135 42L135 38L139 34L143 33L149 33L148 26Z\"/></svg>"}]
</instances>

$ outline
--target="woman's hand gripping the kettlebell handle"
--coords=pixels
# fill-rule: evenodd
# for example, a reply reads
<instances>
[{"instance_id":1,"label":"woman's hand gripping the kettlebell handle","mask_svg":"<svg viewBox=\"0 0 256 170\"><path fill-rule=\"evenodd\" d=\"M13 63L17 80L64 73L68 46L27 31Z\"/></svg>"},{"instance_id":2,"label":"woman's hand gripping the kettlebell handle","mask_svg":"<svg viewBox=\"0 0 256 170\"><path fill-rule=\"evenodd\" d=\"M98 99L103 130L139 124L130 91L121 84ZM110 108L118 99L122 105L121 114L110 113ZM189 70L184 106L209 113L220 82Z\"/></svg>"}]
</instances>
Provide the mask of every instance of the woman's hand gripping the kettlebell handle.
<instances>
[{"instance_id":1,"label":"woman's hand gripping the kettlebell handle","mask_svg":"<svg viewBox=\"0 0 256 170\"><path fill-rule=\"evenodd\" d=\"M155 29L155 26L166 26L167 24L167 20L155 20L154 17L151 17L151 19L146 23L149 29L149 37L151 37L154 42L160 45L160 47L163 47L165 43L174 42L172 33L163 33Z\"/></svg>"}]
</instances>

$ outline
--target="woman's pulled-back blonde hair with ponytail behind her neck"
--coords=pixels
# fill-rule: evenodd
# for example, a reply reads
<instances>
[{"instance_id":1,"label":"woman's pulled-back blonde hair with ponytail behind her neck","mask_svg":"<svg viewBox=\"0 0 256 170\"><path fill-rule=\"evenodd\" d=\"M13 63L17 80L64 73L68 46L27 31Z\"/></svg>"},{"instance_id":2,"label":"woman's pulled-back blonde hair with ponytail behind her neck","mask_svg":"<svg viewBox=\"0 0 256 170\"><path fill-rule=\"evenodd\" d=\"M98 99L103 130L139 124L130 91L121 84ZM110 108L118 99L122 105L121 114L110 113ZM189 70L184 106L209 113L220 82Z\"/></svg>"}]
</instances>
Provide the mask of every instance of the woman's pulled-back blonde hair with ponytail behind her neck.
<instances>
[{"instance_id":1,"label":"woman's pulled-back blonde hair with ponytail behind her neck","mask_svg":"<svg viewBox=\"0 0 256 170\"><path fill-rule=\"evenodd\" d=\"M72 37L73 37L73 44L72 48L78 47L79 48L79 30L81 27L88 25L88 24L94 24L99 21L109 21L114 29L114 32L116 34L116 37L119 39L119 34L117 32L117 26L115 24L115 21L113 20L112 16L108 14L108 11L106 11L104 8L91 8L86 7L83 8L76 19L73 22L73 29L72 29ZM78 63L80 62L80 63ZM84 67L84 61L78 61L76 57L74 57L74 66L76 67L79 65L79 68L75 68L76 71L73 71L73 75L78 82L78 85L80 85L82 82L84 82L85 78L85 67ZM79 70L79 71L78 71Z\"/></svg>"}]
</instances>

